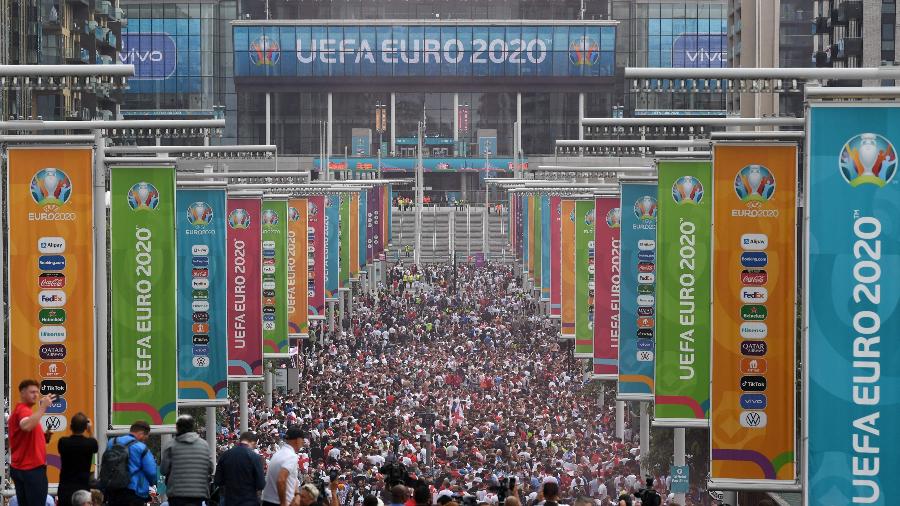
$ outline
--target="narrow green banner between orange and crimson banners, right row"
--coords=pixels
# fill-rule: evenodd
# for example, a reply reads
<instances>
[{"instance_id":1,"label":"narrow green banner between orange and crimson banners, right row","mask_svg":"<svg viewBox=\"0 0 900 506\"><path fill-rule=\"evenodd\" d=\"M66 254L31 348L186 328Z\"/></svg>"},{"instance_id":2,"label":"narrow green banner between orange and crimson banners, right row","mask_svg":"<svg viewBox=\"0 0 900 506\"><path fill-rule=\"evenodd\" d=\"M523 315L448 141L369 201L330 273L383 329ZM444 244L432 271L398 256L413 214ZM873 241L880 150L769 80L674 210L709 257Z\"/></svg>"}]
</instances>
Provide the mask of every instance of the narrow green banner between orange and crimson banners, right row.
<instances>
[{"instance_id":1,"label":"narrow green banner between orange and crimson banners, right row","mask_svg":"<svg viewBox=\"0 0 900 506\"><path fill-rule=\"evenodd\" d=\"M594 358L594 201L575 202L575 358Z\"/></svg>"}]
</instances>

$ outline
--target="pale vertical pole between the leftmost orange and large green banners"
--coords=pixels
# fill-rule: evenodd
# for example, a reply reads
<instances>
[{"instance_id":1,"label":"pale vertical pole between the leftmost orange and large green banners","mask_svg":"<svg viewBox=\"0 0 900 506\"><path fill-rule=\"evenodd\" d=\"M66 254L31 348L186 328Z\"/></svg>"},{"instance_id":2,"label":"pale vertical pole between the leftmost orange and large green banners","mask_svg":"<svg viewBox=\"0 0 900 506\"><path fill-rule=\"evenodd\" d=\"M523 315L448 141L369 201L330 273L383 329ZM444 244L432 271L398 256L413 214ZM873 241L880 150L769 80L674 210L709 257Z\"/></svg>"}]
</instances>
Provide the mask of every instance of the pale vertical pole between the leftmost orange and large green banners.
<instances>
[{"instance_id":1,"label":"pale vertical pole between the leftmost orange and large green banners","mask_svg":"<svg viewBox=\"0 0 900 506\"><path fill-rule=\"evenodd\" d=\"M97 368L94 377L97 444L97 460L106 450L106 431L109 428L109 348L106 283L106 161L104 149L106 140L100 130L94 130L94 340L97 350Z\"/></svg>"}]
</instances>

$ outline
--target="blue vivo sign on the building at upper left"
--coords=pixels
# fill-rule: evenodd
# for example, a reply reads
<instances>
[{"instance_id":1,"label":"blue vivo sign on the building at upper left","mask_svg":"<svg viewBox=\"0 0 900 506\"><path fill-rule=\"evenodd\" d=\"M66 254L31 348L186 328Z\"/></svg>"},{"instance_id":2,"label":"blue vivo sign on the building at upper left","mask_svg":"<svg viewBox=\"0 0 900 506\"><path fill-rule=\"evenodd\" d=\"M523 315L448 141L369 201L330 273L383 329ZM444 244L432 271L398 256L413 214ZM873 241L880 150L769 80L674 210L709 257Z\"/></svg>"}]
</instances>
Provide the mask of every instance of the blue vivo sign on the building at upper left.
<instances>
[{"instance_id":1,"label":"blue vivo sign on the building at upper left","mask_svg":"<svg viewBox=\"0 0 900 506\"><path fill-rule=\"evenodd\" d=\"M126 33L119 61L134 65L131 79L168 79L175 74L178 49L167 33Z\"/></svg>"}]
</instances>

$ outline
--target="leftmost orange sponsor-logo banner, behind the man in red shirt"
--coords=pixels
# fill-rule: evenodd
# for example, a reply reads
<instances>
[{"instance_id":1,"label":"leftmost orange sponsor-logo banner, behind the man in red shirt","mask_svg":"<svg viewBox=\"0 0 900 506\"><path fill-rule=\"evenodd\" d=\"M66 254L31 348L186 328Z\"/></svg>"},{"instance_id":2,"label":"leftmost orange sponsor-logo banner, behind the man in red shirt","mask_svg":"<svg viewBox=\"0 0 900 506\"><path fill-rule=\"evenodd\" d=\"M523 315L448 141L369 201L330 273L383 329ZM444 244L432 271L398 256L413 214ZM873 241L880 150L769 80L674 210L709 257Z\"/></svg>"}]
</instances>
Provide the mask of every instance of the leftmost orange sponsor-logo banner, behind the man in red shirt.
<instances>
[{"instance_id":1,"label":"leftmost orange sponsor-logo banner, behind the man in red shirt","mask_svg":"<svg viewBox=\"0 0 900 506\"><path fill-rule=\"evenodd\" d=\"M94 419L93 150L9 148L7 154L7 265L15 266L7 287L15 336L7 394L18 399L19 382L30 378L42 394L59 396L40 421L54 432L47 478L58 483L57 443L69 419L79 411Z\"/></svg>"}]
</instances>

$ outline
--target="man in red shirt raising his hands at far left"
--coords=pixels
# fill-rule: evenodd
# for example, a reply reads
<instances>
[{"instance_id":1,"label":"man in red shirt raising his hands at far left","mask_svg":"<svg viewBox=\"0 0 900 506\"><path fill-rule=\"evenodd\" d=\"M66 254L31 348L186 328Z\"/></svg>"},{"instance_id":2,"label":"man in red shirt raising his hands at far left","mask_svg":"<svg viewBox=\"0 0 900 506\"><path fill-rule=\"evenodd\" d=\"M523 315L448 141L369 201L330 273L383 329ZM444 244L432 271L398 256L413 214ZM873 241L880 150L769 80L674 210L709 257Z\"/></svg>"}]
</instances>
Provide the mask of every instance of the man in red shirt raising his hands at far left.
<instances>
[{"instance_id":1,"label":"man in red shirt raising his hands at far left","mask_svg":"<svg viewBox=\"0 0 900 506\"><path fill-rule=\"evenodd\" d=\"M9 449L12 465L9 474L16 484L19 506L44 506L47 500L47 442L41 417L55 400L55 395L41 396L33 379L19 383L19 403L9 416ZM32 407L37 404L37 409Z\"/></svg>"}]
</instances>

